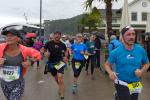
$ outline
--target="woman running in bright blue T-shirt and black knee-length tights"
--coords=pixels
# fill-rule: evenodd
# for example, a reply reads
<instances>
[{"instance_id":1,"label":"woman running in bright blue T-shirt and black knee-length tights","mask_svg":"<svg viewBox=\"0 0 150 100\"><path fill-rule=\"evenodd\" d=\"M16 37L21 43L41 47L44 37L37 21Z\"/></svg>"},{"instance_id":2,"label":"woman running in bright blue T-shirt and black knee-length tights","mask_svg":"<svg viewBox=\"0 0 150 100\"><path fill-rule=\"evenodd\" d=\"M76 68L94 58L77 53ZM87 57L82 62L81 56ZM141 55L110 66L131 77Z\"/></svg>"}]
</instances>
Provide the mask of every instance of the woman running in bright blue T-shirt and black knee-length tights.
<instances>
[{"instance_id":1,"label":"woman running in bright blue T-shirt and black knee-length tights","mask_svg":"<svg viewBox=\"0 0 150 100\"><path fill-rule=\"evenodd\" d=\"M72 69L74 72L72 93L75 94L77 90L77 81L81 70L84 66L84 55L88 54L86 45L82 42L83 37L81 34L76 35L76 43L71 46L73 58L72 58Z\"/></svg>"}]
</instances>

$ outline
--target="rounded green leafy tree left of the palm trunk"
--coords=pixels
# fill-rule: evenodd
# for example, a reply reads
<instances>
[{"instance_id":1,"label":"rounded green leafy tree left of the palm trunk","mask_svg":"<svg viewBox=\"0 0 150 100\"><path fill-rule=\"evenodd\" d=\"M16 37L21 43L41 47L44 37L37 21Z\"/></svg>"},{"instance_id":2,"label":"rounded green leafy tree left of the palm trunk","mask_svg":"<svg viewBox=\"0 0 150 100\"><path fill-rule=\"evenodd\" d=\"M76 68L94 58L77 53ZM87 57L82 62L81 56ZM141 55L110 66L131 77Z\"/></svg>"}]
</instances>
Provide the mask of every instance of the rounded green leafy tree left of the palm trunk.
<instances>
[{"instance_id":1,"label":"rounded green leafy tree left of the palm trunk","mask_svg":"<svg viewBox=\"0 0 150 100\"><path fill-rule=\"evenodd\" d=\"M99 10L94 7L92 8L91 12L86 13L83 15L82 19L80 20L80 24L83 27L88 27L89 32L96 30L102 23L102 17Z\"/></svg>"}]
</instances>

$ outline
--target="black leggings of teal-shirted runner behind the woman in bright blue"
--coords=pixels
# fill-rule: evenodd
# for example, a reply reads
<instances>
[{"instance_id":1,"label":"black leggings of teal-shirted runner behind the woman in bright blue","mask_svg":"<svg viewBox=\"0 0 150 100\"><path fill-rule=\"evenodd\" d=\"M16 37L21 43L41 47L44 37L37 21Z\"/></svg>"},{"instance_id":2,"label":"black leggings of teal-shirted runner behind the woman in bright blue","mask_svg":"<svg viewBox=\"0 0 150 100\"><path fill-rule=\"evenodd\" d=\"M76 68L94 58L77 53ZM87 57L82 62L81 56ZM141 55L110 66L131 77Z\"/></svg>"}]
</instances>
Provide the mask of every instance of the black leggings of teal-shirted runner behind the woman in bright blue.
<instances>
[{"instance_id":1,"label":"black leggings of teal-shirted runner behind the woman in bright blue","mask_svg":"<svg viewBox=\"0 0 150 100\"><path fill-rule=\"evenodd\" d=\"M89 63L91 62L91 74L94 73L94 67L96 65L96 57L95 55L90 55L89 58L86 61L86 71L88 71Z\"/></svg>"}]
</instances>

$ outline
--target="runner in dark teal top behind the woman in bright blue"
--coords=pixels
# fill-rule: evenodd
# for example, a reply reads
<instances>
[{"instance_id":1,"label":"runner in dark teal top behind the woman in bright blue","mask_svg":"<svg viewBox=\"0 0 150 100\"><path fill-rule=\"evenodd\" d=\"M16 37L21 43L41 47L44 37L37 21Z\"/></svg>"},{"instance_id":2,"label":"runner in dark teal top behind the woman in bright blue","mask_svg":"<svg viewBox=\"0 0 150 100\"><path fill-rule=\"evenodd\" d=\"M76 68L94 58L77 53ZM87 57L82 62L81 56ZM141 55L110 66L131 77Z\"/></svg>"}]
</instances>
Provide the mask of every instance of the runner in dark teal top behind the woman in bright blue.
<instances>
[{"instance_id":1,"label":"runner in dark teal top behind the woman in bright blue","mask_svg":"<svg viewBox=\"0 0 150 100\"><path fill-rule=\"evenodd\" d=\"M87 75L89 74L88 72L88 67L89 67L89 63L91 64L91 78L94 80L95 77L93 75L94 73L94 67L96 66L96 51L95 51L95 41L94 41L94 35L91 35L90 40L86 42L86 46L88 48L88 52L89 52L89 57L87 59L86 62L86 73Z\"/></svg>"}]
</instances>

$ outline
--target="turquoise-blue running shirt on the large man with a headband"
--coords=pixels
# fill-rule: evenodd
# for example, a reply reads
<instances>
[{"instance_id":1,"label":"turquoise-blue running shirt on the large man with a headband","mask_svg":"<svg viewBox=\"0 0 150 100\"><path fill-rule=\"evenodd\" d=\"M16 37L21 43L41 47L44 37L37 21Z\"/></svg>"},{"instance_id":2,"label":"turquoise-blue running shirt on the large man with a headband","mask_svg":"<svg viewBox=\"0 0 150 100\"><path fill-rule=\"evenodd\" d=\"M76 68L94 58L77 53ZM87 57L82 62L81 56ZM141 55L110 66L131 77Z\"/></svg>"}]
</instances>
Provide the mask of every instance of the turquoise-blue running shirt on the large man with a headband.
<instances>
[{"instance_id":1,"label":"turquoise-blue running shirt on the large man with a headband","mask_svg":"<svg viewBox=\"0 0 150 100\"><path fill-rule=\"evenodd\" d=\"M145 50L135 44L132 50L127 50L124 45L120 45L110 53L108 62L115 63L119 80L137 82L140 78L135 75L136 69L140 69L142 64L149 61Z\"/></svg>"}]
</instances>

